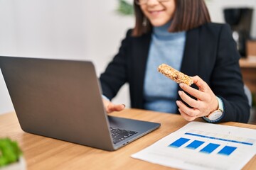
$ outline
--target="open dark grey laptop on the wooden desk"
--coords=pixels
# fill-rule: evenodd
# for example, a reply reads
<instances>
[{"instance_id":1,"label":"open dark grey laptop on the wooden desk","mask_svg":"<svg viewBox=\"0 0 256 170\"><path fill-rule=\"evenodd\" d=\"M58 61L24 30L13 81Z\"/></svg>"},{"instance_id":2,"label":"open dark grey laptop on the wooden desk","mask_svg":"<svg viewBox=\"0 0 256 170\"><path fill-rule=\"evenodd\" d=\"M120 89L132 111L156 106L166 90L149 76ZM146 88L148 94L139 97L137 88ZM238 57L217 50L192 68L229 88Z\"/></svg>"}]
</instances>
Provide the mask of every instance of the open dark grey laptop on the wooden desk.
<instances>
[{"instance_id":1,"label":"open dark grey laptop on the wooden desk","mask_svg":"<svg viewBox=\"0 0 256 170\"><path fill-rule=\"evenodd\" d=\"M0 57L0 68L25 132L112 151L160 127L107 115L90 61Z\"/></svg>"}]
</instances>

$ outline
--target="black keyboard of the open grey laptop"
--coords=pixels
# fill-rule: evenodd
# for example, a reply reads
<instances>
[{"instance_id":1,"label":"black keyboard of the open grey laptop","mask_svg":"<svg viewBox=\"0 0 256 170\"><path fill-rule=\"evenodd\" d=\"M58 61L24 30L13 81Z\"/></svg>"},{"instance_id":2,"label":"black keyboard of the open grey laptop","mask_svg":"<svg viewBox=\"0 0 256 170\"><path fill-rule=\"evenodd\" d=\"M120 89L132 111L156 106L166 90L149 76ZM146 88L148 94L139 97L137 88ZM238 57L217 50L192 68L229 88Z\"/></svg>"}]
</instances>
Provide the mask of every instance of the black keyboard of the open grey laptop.
<instances>
[{"instance_id":1,"label":"black keyboard of the open grey laptop","mask_svg":"<svg viewBox=\"0 0 256 170\"><path fill-rule=\"evenodd\" d=\"M132 135L135 135L138 133L136 131L124 130L119 128L110 128L110 132L111 132L114 144L117 144L118 142L121 142L122 140L125 140L128 137L131 137Z\"/></svg>"}]
</instances>

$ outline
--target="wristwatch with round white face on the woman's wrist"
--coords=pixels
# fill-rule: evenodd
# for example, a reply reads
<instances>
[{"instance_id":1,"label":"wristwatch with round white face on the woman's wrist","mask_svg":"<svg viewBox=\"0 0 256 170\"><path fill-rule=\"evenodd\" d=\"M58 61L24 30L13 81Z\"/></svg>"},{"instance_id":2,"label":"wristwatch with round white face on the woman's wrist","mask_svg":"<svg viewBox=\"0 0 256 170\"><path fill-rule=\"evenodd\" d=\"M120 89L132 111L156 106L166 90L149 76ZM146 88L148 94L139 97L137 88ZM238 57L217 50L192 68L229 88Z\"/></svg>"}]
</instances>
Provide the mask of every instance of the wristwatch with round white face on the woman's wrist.
<instances>
[{"instance_id":1,"label":"wristwatch with round white face on the woman's wrist","mask_svg":"<svg viewBox=\"0 0 256 170\"><path fill-rule=\"evenodd\" d=\"M213 111L207 116L203 116L203 119L206 120L209 123L215 123L218 122L221 118L223 118L224 108L223 108L223 101L216 96L218 100L218 109L216 111Z\"/></svg>"}]
</instances>

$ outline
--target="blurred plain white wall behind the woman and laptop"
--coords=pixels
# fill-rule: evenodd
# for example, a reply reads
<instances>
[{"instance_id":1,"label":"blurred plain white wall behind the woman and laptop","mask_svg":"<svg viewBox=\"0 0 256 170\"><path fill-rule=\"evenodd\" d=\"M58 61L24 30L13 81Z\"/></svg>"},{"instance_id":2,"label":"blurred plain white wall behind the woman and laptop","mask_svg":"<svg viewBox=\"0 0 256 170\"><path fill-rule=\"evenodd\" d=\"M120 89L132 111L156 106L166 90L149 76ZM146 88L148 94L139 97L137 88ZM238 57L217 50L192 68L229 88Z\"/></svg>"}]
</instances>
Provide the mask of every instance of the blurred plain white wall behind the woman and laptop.
<instances>
[{"instance_id":1,"label":"blurred plain white wall behind the woman and laptop","mask_svg":"<svg viewBox=\"0 0 256 170\"><path fill-rule=\"evenodd\" d=\"M132 3L132 0L127 0ZM91 60L97 75L117 52L133 16L117 13L118 0L0 0L0 55ZM206 0L213 22L224 8L256 8L255 0ZM256 11L251 38L256 38ZM114 99L129 107L128 85ZM0 73L0 114L14 111Z\"/></svg>"}]
</instances>

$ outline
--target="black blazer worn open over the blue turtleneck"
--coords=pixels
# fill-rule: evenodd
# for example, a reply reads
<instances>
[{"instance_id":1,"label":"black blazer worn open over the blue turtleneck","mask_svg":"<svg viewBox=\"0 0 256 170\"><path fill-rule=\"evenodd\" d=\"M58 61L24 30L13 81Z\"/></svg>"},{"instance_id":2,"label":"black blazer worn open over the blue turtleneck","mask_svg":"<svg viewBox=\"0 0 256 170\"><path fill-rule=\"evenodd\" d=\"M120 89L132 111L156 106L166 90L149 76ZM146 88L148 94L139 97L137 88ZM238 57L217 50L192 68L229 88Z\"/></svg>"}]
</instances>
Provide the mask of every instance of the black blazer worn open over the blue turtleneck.
<instances>
[{"instance_id":1,"label":"black blazer worn open over the blue turtleneck","mask_svg":"<svg viewBox=\"0 0 256 170\"><path fill-rule=\"evenodd\" d=\"M151 33L136 38L131 33L132 30L128 30L119 52L101 74L100 83L103 94L112 99L128 82L131 107L143 109L144 76ZM187 31L181 72L189 76L198 75L216 96L222 98L225 109L222 122L247 123L249 119L250 106L243 89L239 59L228 25L206 23ZM198 89L195 85L193 87ZM179 96L178 100L181 100Z\"/></svg>"}]
</instances>

